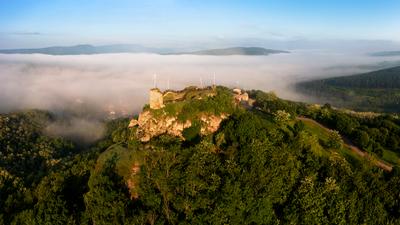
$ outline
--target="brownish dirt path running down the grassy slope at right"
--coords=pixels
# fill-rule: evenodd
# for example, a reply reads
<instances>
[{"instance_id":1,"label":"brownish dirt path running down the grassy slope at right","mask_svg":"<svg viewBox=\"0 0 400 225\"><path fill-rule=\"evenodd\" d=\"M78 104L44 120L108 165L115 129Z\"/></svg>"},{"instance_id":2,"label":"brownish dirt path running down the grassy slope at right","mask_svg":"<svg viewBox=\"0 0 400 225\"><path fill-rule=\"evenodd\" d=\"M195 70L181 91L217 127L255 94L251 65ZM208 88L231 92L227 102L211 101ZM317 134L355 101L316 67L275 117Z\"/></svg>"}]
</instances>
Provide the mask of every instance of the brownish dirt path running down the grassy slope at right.
<instances>
[{"instance_id":1,"label":"brownish dirt path running down the grassy slope at right","mask_svg":"<svg viewBox=\"0 0 400 225\"><path fill-rule=\"evenodd\" d=\"M310 122L310 123L313 123L313 124L315 124L315 125L317 125L317 126L323 128L324 130L326 130L326 131L328 131L328 132L331 132L331 131L332 131L332 130L329 129L328 127L326 127L326 126L324 126L324 125L318 123L317 121L315 121L315 120L313 120L313 119L305 118L305 117L297 117L297 119L298 119L298 120L301 120L301 121L308 121L308 122ZM361 150L360 148L358 148L357 146L355 146L355 145L353 144L353 142L352 142L350 139L348 139L347 137L345 137L345 136L343 136L343 135L340 135L340 136L342 137L342 139L343 139L345 145L346 145L348 148L350 148L352 152L356 153L357 155L359 155L359 156L361 156L361 157L363 157L363 158L368 159L369 161L373 162L377 167L379 167L379 168L381 168L381 169L383 169L383 170L385 170L385 171L388 171L388 172L392 171L392 169L393 169L393 166L392 166L392 165L390 165L390 164L388 164L388 163L386 163L386 162L383 162L382 160L373 158L373 157L370 156L366 151L363 151L363 150Z\"/></svg>"}]
</instances>

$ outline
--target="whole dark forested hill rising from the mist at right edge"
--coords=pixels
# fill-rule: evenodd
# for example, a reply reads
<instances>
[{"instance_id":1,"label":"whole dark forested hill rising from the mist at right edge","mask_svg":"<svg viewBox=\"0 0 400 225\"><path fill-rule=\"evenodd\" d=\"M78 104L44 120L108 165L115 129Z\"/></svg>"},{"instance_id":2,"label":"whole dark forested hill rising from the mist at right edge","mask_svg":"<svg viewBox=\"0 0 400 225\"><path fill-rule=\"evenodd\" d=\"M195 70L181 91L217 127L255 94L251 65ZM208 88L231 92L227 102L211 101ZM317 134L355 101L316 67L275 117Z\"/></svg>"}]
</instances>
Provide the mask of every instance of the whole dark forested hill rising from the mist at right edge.
<instances>
[{"instance_id":1,"label":"whole dark forested hill rising from the mist at right edge","mask_svg":"<svg viewBox=\"0 0 400 225\"><path fill-rule=\"evenodd\" d=\"M301 82L319 101L356 110L400 112L400 66L352 76Z\"/></svg>"}]
</instances>

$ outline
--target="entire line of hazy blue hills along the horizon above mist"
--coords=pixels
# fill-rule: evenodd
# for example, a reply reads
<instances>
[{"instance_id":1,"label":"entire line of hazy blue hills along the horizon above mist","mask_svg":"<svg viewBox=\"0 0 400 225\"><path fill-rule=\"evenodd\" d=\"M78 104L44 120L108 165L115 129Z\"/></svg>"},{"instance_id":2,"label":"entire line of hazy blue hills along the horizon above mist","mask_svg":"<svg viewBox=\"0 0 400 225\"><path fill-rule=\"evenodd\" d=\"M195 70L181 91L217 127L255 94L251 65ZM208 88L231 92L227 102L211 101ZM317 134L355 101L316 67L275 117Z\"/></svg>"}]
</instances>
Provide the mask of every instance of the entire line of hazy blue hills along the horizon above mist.
<instances>
[{"instance_id":1,"label":"entire line of hazy blue hills along the horizon above mist","mask_svg":"<svg viewBox=\"0 0 400 225\"><path fill-rule=\"evenodd\" d=\"M286 51L259 47L234 47L224 49L208 49L193 52L174 52L171 49L148 48L141 45L75 45L54 46L47 48L3 49L1 54L46 54L46 55L92 55L106 53L154 53L160 55L269 55L288 53Z\"/></svg>"}]
</instances>

